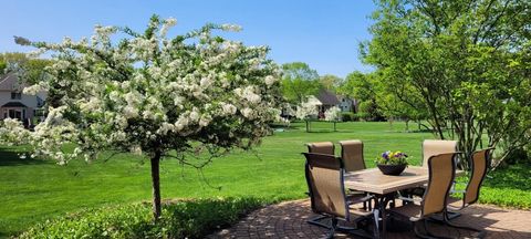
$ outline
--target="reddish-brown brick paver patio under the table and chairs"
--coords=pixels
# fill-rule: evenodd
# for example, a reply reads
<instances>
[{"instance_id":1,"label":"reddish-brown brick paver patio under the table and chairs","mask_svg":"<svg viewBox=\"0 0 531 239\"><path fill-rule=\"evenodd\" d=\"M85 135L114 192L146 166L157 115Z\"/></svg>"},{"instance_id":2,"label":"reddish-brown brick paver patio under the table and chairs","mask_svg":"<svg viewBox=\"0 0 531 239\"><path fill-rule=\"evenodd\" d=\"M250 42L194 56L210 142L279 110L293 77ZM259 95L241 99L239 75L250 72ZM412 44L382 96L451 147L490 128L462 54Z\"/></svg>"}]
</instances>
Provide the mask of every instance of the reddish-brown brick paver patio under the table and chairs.
<instances>
[{"instance_id":1,"label":"reddish-brown brick paver patio under the table and chairs","mask_svg":"<svg viewBox=\"0 0 531 239\"><path fill-rule=\"evenodd\" d=\"M306 224L313 217L309 200L295 200L272 205L254 212L235 225L211 235L209 238L323 238L326 229ZM531 211L511 210L491 206L471 206L455 219L456 224L487 230L487 238L531 238ZM429 224L430 231L450 237L465 238L471 232ZM409 229L388 232L387 238L415 238ZM336 238L356 238L336 233Z\"/></svg>"}]
</instances>

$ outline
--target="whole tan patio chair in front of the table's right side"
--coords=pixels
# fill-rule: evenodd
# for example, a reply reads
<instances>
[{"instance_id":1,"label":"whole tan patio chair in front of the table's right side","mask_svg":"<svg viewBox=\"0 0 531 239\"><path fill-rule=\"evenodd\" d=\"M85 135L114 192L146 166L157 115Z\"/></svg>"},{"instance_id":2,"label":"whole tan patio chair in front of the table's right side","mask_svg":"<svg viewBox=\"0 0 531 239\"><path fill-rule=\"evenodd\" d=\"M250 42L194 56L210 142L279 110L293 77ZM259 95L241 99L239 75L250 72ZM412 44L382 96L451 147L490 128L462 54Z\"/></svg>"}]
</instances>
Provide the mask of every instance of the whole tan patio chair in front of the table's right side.
<instances>
[{"instance_id":1,"label":"whole tan patio chair in front of the table's right side","mask_svg":"<svg viewBox=\"0 0 531 239\"><path fill-rule=\"evenodd\" d=\"M412 221L417 237L434 238L435 236L427 229L426 219L437 214L446 215L446 201L456 175L456 164L454 162L457 153L446 153L429 157L427 160L429 180L421 200L409 199L414 204L406 204L389 209L393 215ZM402 199L405 200L406 198ZM427 235L423 235L418 230L420 221L424 222L424 229Z\"/></svg>"}]
</instances>

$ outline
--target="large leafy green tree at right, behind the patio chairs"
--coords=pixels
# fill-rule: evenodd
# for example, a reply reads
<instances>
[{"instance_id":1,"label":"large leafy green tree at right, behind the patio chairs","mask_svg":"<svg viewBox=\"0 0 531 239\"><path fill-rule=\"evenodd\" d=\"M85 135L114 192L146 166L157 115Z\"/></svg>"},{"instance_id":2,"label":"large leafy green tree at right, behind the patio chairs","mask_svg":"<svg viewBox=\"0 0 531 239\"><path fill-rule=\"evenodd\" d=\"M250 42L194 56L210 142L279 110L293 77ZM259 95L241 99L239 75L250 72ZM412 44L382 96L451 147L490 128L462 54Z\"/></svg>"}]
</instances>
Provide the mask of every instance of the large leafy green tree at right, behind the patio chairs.
<instances>
[{"instance_id":1,"label":"large leafy green tree at right, behind the patio chairs","mask_svg":"<svg viewBox=\"0 0 531 239\"><path fill-rule=\"evenodd\" d=\"M377 67L379 81L395 89L389 94L414 108L423 105L436 135L459 139L467 156L487 145L507 155L529 144L529 115L522 114L529 101L522 96L531 92L523 66L529 65L531 2L377 4L373 40L361 49L364 61ZM460 166L466 168L467 162Z\"/></svg>"}]
</instances>

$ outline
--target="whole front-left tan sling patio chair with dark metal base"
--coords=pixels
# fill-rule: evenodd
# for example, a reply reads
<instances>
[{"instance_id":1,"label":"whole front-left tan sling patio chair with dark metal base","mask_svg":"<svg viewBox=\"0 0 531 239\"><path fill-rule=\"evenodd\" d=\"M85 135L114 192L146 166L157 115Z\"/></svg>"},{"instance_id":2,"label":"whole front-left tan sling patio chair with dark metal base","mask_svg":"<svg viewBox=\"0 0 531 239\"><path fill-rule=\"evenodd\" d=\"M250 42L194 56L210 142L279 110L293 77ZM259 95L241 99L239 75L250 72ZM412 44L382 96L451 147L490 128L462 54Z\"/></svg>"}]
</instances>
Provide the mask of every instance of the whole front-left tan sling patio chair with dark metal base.
<instances>
[{"instance_id":1,"label":"whole front-left tan sling patio chair with dark metal base","mask_svg":"<svg viewBox=\"0 0 531 239\"><path fill-rule=\"evenodd\" d=\"M361 230L358 225L366 220L373 212L365 210L355 210L351 205L371 200L372 196L357 195L356 197L346 197L343 180L343 163L340 157L327 154L302 153L306 158L305 177L310 188L310 199L312 211L331 218L329 238L333 238L336 230L357 235L365 238L372 238L371 235ZM377 220L377 210L374 210ZM358 216L353 219L353 216ZM354 228L337 227L339 219L351 221L356 225ZM311 221L309 221L312 224ZM375 232L377 229L375 221ZM321 225L317 225L321 226Z\"/></svg>"}]
</instances>

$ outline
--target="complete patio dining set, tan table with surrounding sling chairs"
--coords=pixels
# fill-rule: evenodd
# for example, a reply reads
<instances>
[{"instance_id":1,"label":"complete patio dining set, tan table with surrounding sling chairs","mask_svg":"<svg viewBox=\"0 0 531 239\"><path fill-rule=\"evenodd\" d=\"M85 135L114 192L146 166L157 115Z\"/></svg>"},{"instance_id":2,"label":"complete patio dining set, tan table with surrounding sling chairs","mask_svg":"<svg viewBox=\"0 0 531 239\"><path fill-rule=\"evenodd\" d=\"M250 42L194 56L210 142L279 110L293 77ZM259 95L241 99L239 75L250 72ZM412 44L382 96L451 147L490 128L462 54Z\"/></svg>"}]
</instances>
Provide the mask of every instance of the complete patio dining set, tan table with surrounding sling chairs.
<instances>
[{"instance_id":1,"label":"complete patio dining set, tan table with surrounding sling chairs","mask_svg":"<svg viewBox=\"0 0 531 239\"><path fill-rule=\"evenodd\" d=\"M385 238L392 227L406 230L413 227L420 238L448 238L430 232L429 224L485 237L483 230L452 219L478 200L492 148L465 158L457 150L456 141L424 141L423 165L408 166L394 176L384 175L378 168L366 168L361 141L342 141L340 146L339 157L332 142L310 143L309 152L303 153L311 208L317 214L308 222L330 229L329 238L336 231ZM469 180L465 190L456 190L456 176L466 174L457 168L457 160L464 159L469 160ZM456 194L462 198L451 197Z\"/></svg>"}]
</instances>

